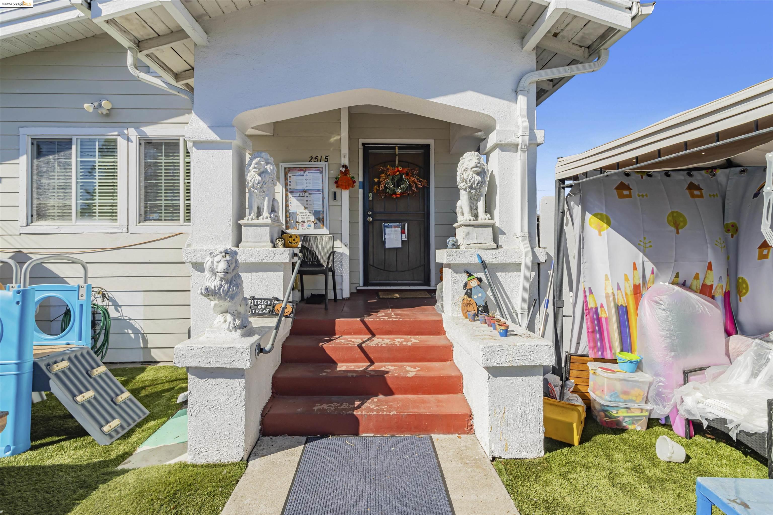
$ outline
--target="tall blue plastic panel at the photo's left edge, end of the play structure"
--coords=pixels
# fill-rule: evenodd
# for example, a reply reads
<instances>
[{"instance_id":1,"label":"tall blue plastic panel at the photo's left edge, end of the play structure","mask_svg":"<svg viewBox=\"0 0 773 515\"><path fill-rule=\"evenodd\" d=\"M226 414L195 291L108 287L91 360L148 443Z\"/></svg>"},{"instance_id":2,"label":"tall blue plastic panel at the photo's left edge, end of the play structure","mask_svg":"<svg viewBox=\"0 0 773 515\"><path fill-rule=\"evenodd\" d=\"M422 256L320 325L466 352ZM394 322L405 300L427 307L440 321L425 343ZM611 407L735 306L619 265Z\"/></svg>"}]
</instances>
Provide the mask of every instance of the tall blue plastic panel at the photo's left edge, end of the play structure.
<instances>
[{"instance_id":1,"label":"tall blue plastic panel at the photo's left edge, end of the play structure","mask_svg":"<svg viewBox=\"0 0 773 515\"><path fill-rule=\"evenodd\" d=\"M35 289L0 290L0 411L9 412L0 457L29 449L34 327Z\"/></svg>"}]
</instances>

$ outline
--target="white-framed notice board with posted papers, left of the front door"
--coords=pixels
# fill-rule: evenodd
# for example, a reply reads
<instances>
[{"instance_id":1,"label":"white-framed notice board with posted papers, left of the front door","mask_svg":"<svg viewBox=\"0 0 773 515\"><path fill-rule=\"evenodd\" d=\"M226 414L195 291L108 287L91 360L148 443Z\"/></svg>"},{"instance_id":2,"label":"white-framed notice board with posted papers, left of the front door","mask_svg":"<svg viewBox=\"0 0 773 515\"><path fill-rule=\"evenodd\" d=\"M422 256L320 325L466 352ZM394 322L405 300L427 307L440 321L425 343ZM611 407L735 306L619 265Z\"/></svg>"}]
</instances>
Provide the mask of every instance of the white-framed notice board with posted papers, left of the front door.
<instances>
[{"instance_id":1,"label":"white-framed notice board with posted papers, left of the front door","mask_svg":"<svg viewBox=\"0 0 773 515\"><path fill-rule=\"evenodd\" d=\"M281 164L284 229L324 232L327 223L327 164Z\"/></svg>"}]
</instances>

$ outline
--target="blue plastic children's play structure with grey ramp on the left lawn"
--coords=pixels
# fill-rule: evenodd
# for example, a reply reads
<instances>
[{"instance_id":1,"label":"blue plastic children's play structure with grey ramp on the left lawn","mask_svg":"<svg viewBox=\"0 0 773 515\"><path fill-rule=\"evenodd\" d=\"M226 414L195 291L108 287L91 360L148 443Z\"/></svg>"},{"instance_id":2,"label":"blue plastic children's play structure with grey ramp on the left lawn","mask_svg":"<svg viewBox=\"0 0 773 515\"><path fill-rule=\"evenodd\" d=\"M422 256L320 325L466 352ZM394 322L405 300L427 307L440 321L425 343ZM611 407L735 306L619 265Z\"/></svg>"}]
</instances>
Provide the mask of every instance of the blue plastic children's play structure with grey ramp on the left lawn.
<instances>
[{"instance_id":1,"label":"blue plastic children's play structure with grey ramp on the left lawn","mask_svg":"<svg viewBox=\"0 0 773 515\"><path fill-rule=\"evenodd\" d=\"M32 267L49 261L80 265L83 282L30 286ZM109 323L107 310L93 306L87 264L70 256L45 256L31 259L19 271L11 259L0 262L13 268L12 284L0 290L0 411L8 412L0 432L0 457L29 449L33 391L53 392L100 445L145 418L148 410L92 350L104 356ZM36 324L36 312L49 297L66 305L60 334L47 334ZM101 319L95 327L93 310Z\"/></svg>"}]
</instances>

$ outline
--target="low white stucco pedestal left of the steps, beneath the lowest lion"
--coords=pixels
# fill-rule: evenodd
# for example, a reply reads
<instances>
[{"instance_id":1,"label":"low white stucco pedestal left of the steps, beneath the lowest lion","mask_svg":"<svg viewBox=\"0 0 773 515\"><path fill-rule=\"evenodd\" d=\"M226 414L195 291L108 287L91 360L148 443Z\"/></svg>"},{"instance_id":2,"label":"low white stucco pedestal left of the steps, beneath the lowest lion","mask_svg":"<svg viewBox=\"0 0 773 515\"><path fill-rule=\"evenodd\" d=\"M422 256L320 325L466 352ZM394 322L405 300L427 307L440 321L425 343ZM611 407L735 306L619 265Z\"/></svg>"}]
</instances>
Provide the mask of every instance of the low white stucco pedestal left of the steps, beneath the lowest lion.
<instances>
[{"instance_id":1,"label":"low white stucco pedestal left of the steps, beneath the lowest lion","mask_svg":"<svg viewBox=\"0 0 773 515\"><path fill-rule=\"evenodd\" d=\"M276 319L250 320L250 334L200 334L175 347L175 365L188 368L190 463L240 461L257 442L290 320L282 320L274 351L259 356L256 347L268 344Z\"/></svg>"}]
</instances>

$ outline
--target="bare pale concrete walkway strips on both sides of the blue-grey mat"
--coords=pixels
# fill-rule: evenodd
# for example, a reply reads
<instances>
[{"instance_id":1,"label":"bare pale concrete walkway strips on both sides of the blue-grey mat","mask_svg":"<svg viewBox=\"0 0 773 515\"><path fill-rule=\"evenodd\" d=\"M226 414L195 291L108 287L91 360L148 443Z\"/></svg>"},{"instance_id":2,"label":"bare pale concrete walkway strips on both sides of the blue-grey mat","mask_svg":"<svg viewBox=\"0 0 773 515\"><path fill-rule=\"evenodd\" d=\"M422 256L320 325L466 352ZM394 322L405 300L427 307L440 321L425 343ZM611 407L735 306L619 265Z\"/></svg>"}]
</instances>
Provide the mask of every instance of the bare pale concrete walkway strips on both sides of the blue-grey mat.
<instances>
[{"instance_id":1,"label":"bare pale concrete walkway strips on both sides of the blue-grey mat","mask_svg":"<svg viewBox=\"0 0 773 515\"><path fill-rule=\"evenodd\" d=\"M434 435L432 439L455 515L518 515L474 435ZM262 437L222 515L281 515L305 440L303 436Z\"/></svg>"}]
</instances>

